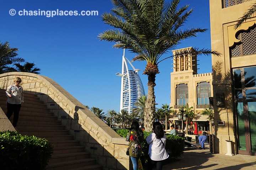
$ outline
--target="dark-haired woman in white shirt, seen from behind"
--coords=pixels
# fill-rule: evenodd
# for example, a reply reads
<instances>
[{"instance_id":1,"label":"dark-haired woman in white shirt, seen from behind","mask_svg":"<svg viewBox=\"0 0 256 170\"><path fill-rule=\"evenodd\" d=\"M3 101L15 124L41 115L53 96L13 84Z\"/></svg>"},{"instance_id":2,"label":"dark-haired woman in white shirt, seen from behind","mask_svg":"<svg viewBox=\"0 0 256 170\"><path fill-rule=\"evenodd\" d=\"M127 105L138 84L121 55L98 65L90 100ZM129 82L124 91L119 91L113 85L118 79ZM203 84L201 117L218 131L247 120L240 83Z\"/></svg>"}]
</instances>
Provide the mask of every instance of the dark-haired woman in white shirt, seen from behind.
<instances>
[{"instance_id":1,"label":"dark-haired woman in white shirt, seen from behind","mask_svg":"<svg viewBox=\"0 0 256 170\"><path fill-rule=\"evenodd\" d=\"M161 170L163 160L169 157L165 150L166 136L162 124L158 121L153 123L153 131L154 132L146 138L146 142L149 144L147 170L152 170L155 164L156 170Z\"/></svg>"}]
</instances>

